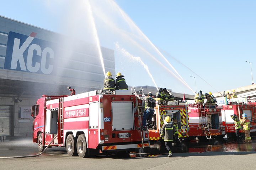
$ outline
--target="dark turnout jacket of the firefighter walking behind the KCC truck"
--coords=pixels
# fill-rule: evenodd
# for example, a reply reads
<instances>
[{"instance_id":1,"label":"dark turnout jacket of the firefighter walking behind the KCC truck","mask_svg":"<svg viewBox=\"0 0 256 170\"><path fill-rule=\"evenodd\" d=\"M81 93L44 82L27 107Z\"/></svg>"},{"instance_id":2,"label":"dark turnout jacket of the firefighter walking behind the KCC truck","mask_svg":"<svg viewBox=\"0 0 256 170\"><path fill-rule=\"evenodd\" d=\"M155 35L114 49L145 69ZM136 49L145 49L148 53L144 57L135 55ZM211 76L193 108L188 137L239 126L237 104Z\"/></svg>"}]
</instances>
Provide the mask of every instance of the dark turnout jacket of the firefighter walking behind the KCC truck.
<instances>
[{"instance_id":1,"label":"dark turnout jacket of the firefighter walking behind the KCC truck","mask_svg":"<svg viewBox=\"0 0 256 170\"><path fill-rule=\"evenodd\" d=\"M165 142L171 142L174 140L175 127L171 123L162 125L160 138L163 136Z\"/></svg>"}]
</instances>

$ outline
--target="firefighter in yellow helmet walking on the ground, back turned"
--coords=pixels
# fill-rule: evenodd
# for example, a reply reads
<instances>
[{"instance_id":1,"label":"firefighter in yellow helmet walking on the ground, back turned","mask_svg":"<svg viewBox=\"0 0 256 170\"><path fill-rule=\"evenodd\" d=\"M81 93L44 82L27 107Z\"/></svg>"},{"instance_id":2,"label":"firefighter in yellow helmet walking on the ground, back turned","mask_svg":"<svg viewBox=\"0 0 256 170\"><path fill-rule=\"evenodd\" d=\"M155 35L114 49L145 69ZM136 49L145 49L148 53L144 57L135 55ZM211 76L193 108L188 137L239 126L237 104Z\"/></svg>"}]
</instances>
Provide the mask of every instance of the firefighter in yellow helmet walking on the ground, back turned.
<instances>
[{"instance_id":1,"label":"firefighter in yellow helmet walking on the ground, back turned","mask_svg":"<svg viewBox=\"0 0 256 170\"><path fill-rule=\"evenodd\" d=\"M167 157L171 157L171 155L173 155L171 150L172 150L172 142L175 140L175 128L171 124L170 116L165 117L164 125L162 125L162 128L161 128L160 139L161 137L164 137L165 147L169 152L169 155Z\"/></svg>"}]
</instances>

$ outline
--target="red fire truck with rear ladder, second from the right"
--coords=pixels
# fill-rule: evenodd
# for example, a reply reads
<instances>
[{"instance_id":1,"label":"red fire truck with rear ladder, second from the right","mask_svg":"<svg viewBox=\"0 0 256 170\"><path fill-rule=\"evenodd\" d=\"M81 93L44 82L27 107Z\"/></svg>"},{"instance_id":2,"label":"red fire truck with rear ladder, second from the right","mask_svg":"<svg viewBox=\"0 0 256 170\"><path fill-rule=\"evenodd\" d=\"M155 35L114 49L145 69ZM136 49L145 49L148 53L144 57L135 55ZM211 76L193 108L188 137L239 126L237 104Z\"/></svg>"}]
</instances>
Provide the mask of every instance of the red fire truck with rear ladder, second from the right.
<instances>
[{"instance_id":1,"label":"red fire truck with rear ladder, second from the right","mask_svg":"<svg viewBox=\"0 0 256 170\"><path fill-rule=\"evenodd\" d=\"M214 108L210 108L214 107ZM198 137L199 140L222 138L226 135L222 125L222 113L215 106L204 106L200 103L188 105L189 139Z\"/></svg>"}]
</instances>

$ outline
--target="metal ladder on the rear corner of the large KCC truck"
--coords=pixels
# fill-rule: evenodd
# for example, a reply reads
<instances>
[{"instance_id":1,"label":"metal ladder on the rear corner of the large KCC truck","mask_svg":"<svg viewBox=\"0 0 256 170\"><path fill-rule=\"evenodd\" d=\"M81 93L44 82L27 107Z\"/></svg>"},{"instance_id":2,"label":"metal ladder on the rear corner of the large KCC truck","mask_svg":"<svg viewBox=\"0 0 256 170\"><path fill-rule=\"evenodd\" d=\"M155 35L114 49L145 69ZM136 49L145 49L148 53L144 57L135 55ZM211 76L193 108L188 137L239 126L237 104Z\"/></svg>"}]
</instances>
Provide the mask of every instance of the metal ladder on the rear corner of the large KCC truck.
<instances>
[{"instance_id":1,"label":"metal ladder on the rear corner of the large KCC truck","mask_svg":"<svg viewBox=\"0 0 256 170\"><path fill-rule=\"evenodd\" d=\"M133 94L137 94L137 92L135 91L134 87L132 87L131 90L132 90ZM140 87L139 92L140 92L141 95L144 95L144 91L143 91L142 87ZM135 96L135 98L136 98L136 107L137 107L137 111L138 111L138 115L137 116L139 118L139 124L140 124L140 128L137 128L137 129L140 129L140 136L141 136L141 139L142 139L142 147L144 148L144 142L145 141L148 141L148 145L150 147L148 126L146 126L146 130L142 130L142 128L143 128L142 120L143 120L143 115L145 113L145 102L142 102L142 106L139 106L138 98L136 96ZM142 110L142 113L140 113L140 110Z\"/></svg>"}]
</instances>

